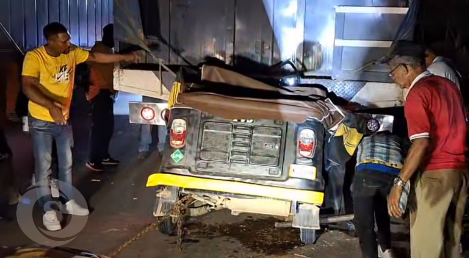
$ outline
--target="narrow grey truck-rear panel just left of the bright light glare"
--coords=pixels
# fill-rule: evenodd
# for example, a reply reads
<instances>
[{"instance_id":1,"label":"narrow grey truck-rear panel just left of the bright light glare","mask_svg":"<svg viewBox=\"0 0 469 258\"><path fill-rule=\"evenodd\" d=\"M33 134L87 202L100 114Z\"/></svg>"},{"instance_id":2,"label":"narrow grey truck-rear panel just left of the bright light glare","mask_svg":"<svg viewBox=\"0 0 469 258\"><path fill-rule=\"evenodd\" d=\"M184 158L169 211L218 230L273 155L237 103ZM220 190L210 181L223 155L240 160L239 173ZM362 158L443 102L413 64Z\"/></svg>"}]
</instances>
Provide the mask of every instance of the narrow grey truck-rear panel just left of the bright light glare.
<instances>
[{"instance_id":1,"label":"narrow grey truck-rear panel just left of the bright light glare","mask_svg":"<svg viewBox=\"0 0 469 258\"><path fill-rule=\"evenodd\" d=\"M235 55L272 65L274 0L236 2Z\"/></svg>"}]
</instances>

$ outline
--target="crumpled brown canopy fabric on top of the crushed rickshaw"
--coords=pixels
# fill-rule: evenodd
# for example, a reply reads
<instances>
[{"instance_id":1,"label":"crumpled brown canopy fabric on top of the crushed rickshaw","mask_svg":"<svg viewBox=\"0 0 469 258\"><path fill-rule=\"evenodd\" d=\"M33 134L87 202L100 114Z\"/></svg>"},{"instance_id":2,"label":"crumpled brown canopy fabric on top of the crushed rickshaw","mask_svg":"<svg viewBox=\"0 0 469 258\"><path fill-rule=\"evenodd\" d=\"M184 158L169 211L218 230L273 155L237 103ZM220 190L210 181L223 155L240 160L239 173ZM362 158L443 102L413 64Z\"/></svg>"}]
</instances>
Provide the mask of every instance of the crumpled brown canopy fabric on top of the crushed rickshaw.
<instances>
[{"instance_id":1,"label":"crumpled brown canopy fabric on top of the crushed rickshaw","mask_svg":"<svg viewBox=\"0 0 469 258\"><path fill-rule=\"evenodd\" d=\"M269 119L302 123L313 118L325 128L338 124L345 111L337 111L326 92L312 88L310 95L299 96L288 87L279 88L243 74L214 66L203 66L201 81L190 83L180 76L183 87L175 103L225 119ZM302 95L304 91L301 91Z\"/></svg>"}]
</instances>

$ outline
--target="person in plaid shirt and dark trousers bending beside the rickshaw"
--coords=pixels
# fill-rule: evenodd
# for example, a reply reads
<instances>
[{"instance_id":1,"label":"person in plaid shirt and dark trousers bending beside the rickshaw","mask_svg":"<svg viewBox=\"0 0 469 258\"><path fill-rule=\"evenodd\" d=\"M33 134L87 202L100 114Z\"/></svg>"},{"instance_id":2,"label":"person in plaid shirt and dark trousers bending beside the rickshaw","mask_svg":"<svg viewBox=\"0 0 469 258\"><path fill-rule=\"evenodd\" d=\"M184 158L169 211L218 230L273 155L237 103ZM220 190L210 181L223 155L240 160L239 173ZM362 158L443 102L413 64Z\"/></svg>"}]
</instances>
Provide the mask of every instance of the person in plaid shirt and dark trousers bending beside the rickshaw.
<instances>
[{"instance_id":1,"label":"person in plaid shirt and dark trousers bending beside the rickshaw","mask_svg":"<svg viewBox=\"0 0 469 258\"><path fill-rule=\"evenodd\" d=\"M363 258L394 257L387 195L404 163L406 146L404 139L388 132L367 136L358 146L353 201Z\"/></svg>"}]
</instances>

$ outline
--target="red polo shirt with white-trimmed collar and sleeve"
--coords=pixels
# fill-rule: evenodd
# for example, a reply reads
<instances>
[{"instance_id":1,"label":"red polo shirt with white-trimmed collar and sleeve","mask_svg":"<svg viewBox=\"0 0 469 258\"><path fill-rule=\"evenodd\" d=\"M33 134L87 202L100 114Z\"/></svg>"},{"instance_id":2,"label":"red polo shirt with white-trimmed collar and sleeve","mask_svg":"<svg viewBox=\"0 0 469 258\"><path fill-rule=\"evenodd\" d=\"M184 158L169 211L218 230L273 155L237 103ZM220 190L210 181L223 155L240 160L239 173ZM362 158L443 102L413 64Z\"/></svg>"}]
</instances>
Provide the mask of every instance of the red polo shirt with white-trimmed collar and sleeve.
<instances>
[{"instance_id":1,"label":"red polo shirt with white-trimmed collar and sleeve","mask_svg":"<svg viewBox=\"0 0 469 258\"><path fill-rule=\"evenodd\" d=\"M467 168L461 92L440 76L421 74L416 80L407 94L404 112L410 140L430 138L424 170Z\"/></svg>"}]
</instances>

